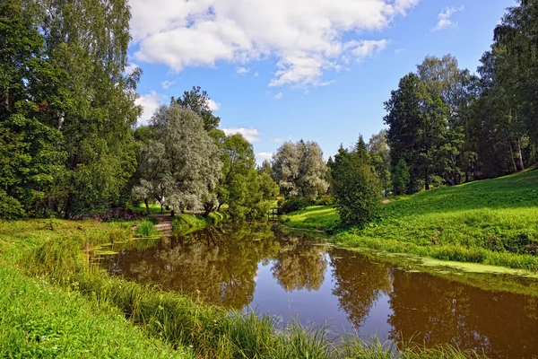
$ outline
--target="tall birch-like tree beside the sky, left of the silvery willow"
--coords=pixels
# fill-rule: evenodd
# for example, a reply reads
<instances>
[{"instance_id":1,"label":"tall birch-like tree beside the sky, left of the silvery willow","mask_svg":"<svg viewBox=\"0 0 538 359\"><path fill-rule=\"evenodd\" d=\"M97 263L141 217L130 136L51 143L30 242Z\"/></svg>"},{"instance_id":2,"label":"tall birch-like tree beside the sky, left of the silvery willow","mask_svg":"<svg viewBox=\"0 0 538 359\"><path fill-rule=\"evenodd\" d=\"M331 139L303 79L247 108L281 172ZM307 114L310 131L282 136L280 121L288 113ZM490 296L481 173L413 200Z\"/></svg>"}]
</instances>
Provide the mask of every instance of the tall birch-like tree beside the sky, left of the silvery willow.
<instances>
[{"instance_id":1,"label":"tall birch-like tree beside the sky, left of the silvery willow","mask_svg":"<svg viewBox=\"0 0 538 359\"><path fill-rule=\"evenodd\" d=\"M37 0L36 0L37 1ZM120 201L134 171L132 128L139 71L126 74L131 14L126 0L40 0L48 62L62 99L47 125L63 135L65 216Z\"/></svg>"}]
</instances>

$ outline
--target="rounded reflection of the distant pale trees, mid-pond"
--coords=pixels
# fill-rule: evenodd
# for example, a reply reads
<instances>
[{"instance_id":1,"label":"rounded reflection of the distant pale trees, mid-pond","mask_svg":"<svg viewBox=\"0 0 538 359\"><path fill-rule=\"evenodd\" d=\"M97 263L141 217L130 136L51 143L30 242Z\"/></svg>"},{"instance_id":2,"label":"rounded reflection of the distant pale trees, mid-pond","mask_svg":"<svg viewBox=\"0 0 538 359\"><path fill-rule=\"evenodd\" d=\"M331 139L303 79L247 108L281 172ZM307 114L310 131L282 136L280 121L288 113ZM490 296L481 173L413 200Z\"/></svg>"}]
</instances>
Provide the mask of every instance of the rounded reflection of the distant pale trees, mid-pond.
<instances>
[{"instance_id":1,"label":"rounded reflection of the distant pale trees, mid-pond","mask_svg":"<svg viewBox=\"0 0 538 359\"><path fill-rule=\"evenodd\" d=\"M285 238L274 259L273 278L286 292L316 291L323 284L327 261L324 247L304 238Z\"/></svg>"}]
</instances>

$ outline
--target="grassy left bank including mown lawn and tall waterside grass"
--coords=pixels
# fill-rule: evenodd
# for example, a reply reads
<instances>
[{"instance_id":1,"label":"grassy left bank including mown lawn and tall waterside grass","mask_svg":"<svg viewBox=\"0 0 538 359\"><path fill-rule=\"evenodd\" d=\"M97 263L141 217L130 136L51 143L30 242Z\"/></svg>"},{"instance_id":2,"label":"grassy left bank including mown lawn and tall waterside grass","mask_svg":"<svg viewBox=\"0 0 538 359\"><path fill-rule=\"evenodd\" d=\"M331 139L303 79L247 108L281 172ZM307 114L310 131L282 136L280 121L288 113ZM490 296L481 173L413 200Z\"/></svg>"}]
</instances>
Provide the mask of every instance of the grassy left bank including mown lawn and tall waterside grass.
<instances>
[{"instance_id":1,"label":"grassy left bank including mown lawn and tall waterside grass","mask_svg":"<svg viewBox=\"0 0 538 359\"><path fill-rule=\"evenodd\" d=\"M134 223L0 223L0 356L392 358L379 344L342 345L299 323L229 312L91 267L87 246L125 241ZM28 343L28 344L27 344ZM400 346L404 358L460 358L448 347Z\"/></svg>"}]
</instances>

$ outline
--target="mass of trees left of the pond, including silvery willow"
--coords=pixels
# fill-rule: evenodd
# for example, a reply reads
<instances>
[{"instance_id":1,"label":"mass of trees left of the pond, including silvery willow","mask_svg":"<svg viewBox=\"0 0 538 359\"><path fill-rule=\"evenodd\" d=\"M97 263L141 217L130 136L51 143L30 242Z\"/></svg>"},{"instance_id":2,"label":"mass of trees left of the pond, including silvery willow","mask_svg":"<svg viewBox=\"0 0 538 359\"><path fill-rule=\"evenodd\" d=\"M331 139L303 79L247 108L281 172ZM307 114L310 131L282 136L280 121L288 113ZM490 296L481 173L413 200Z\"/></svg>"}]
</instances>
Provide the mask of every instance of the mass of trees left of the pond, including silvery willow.
<instances>
[{"instance_id":1,"label":"mass of trees left of the pond, including silvery willow","mask_svg":"<svg viewBox=\"0 0 538 359\"><path fill-rule=\"evenodd\" d=\"M265 215L278 186L251 144L217 129L199 87L136 127L130 17L126 0L0 3L0 218L155 201Z\"/></svg>"}]
</instances>

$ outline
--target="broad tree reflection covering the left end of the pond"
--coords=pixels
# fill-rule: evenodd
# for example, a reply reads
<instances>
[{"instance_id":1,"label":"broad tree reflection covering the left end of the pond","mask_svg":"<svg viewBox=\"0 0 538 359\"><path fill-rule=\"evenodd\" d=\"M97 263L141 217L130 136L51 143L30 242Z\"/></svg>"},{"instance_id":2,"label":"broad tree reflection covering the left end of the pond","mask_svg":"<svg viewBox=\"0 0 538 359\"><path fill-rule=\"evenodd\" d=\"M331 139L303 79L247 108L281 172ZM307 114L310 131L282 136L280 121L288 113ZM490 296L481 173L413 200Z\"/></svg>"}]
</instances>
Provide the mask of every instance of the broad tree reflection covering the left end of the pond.
<instances>
[{"instance_id":1,"label":"broad tree reflection covering the left end of the pond","mask_svg":"<svg viewBox=\"0 0 538 359\"><path fill-rule=\"evenodd\" d=\"M252 301L258 262L274 257L279 247L265 225L209 228L171 237L148 250L124 251L108 267L141 283L241 309Z\"/></svg>"}]
</instances>

